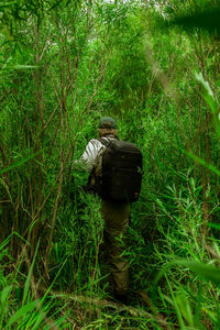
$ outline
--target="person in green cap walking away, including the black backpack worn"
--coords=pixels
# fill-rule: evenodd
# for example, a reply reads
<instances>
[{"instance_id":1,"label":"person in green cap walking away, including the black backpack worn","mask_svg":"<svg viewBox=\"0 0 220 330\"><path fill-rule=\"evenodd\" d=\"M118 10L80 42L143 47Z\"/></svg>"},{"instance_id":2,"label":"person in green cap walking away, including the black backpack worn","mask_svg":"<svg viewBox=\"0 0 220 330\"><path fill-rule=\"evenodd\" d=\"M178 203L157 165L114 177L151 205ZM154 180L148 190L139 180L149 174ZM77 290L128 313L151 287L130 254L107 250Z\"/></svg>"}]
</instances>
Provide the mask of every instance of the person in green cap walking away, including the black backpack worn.
<instances>
[{"instance_id":1,"label":"person in green cap walking away, including the black backpack worn","mask_svg":"<svg viewBox=\"0 0 220 330\"><path fill-rule=\"evenodd\" d=\"M125 302L129 263L122 253L127 246L131 201L138 200L141 189L142 154L134 144L120 141L117 133L116 120L102 118L98 127L99 138L89 141L81 160L90 173L88 190L102 199L106 265L113 296Z\"/></svg>"}]
</instances>

